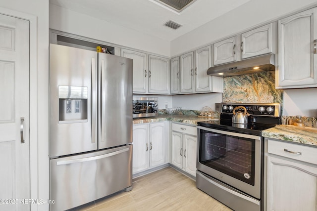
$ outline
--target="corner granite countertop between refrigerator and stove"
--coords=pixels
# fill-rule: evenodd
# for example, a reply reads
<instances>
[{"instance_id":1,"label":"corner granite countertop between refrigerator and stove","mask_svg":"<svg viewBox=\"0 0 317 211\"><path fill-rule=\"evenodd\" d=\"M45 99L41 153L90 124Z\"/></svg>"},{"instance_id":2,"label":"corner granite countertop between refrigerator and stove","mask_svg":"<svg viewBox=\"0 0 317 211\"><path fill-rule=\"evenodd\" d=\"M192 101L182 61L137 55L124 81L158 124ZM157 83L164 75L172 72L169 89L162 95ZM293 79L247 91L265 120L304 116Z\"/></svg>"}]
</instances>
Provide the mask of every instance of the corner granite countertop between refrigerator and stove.
<instances>
[{"instance_id":1,"label":"corner granite countertop between refrigerator and stove","mask_svg":"<svg viewBox=\"0 0 317 211\"><path fill-rule=\"evenodd\" d=\"M216 120L219 118L214 117L199 117L197 115L170 115L170 114L160 114L155 117L146 117L146 118L134 118L133 125L143 124L143 123L154 123L162 121L172 121L178 123L185 123L190 125L197 125L197 122Z\"/></svg>"}]
</instances>

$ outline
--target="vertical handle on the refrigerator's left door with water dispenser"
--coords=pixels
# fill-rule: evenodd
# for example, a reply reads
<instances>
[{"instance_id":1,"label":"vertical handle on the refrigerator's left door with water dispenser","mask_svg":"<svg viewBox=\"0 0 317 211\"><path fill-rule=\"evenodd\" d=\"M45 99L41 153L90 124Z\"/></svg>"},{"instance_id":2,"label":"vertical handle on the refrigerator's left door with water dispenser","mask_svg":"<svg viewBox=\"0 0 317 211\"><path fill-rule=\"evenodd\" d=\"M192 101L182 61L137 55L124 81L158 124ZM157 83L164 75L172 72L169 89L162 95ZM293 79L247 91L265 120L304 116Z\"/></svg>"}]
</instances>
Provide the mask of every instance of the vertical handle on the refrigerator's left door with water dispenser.
<instances>
[{"instance_id":1,"label":"vertical handle on the refrigerator's left door with water dispenser","mask_svg":"<svg viewBox=\"0 0 317 211\"><path fill-rule=\"evenodd\" d=\"M91 142L95 143L96 140L96 66L95 58L91 59L91 83L92 83L92 93L91 93Z\"/></svg>"}]
</instances>

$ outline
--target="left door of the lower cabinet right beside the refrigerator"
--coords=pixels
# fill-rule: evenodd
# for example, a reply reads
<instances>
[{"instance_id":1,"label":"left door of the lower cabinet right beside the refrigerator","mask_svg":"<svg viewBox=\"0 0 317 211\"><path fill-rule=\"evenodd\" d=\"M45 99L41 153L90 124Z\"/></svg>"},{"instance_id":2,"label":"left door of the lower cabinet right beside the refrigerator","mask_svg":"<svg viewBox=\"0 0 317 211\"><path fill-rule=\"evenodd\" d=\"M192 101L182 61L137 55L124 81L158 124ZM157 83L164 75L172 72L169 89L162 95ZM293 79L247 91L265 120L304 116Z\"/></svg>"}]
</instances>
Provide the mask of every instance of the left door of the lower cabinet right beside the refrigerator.
<instances>
[{"instance_id":1,"label":"left door of the lower cabinet right beside the refrigerator","mask_svg":"<svg viewBox=\"0 0 317 211\"><path fill-rule=\"evenodd\" d=\"M133 126L132 173L149 167L149 129L147 124Z\"/></svg>"}]
</instances>

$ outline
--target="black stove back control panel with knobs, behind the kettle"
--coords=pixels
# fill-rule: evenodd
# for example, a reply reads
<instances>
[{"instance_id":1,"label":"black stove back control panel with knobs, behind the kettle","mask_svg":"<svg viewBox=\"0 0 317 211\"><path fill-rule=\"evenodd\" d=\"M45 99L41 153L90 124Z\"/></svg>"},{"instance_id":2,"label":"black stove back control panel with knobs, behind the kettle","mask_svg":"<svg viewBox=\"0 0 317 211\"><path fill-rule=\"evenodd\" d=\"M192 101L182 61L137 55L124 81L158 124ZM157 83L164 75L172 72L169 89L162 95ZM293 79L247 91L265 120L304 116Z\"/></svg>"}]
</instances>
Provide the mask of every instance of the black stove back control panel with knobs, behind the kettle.
<instances>
[{"instance_id":1,"label":"black stove back control panel with knobs, behind the kettle","mask_svg":"<svg viewBox=\"0 0 317 211\"><path fill-rule=\"evenodd\" d=\"M233 113L233 110L235 112L244 112L244 108L250 115L279 117L281 114L281 105L279 103L221 103L220 106L221 113L227 114ZM235 109L239 106L243 106L244 108Z\"/></svg>"}]
</instances>

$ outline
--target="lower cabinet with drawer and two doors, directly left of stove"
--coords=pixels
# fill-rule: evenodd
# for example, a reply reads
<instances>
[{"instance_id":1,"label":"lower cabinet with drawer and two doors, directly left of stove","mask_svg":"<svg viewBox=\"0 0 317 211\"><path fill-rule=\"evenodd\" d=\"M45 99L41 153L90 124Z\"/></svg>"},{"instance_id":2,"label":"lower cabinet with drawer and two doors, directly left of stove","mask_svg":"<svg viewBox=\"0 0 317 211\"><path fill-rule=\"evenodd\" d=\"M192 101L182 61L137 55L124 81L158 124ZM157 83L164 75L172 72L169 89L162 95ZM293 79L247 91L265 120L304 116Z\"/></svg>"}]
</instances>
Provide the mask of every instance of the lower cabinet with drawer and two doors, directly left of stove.
<instances>
[{"instance_id":1,"label":"lower cabinet with drawer and two doors, directly left of stove","mask_svg":"<svg viewBox=\"0 0 317 211\"><path fill-rule=\"evenodd\" d=\"M171 164L193 176L196 176L196 139L196 127L172 123Z\"/></svg>"}]
</instances>

